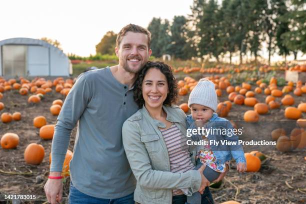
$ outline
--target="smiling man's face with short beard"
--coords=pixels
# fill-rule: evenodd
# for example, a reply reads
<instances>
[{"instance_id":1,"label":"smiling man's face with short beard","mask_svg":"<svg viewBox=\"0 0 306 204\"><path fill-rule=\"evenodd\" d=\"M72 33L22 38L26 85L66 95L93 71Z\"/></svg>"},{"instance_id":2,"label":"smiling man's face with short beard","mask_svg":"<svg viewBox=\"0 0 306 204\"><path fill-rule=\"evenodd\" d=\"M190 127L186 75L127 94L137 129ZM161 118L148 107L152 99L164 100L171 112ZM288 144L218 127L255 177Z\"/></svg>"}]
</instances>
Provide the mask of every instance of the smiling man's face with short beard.
<instances>
[{"instance_id":1,"label":"smiling man's face with short beard","mask_svg":"<svg viewBox=\"0 0 306 204\"><path fill-rule=\"evenodd\" d=\"M152 53L147 47L147 35L130 31L122 37L115 52L119 58L119 65L130 73L137 73Z\"/></svg>"}]
</instances>

